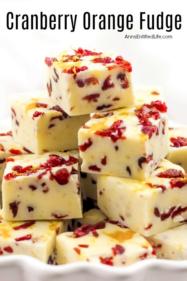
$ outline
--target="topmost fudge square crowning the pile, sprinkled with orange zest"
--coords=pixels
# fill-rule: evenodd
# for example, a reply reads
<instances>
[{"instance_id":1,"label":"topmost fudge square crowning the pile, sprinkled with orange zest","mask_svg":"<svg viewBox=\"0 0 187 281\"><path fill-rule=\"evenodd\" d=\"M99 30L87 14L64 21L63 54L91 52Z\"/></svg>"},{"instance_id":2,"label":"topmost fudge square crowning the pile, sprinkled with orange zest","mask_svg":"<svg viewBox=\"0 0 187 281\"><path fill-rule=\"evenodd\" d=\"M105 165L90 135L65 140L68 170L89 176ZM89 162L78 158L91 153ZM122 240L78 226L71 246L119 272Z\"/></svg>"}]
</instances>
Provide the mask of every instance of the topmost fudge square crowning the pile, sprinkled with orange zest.
<instances>
[{"instance_id":1,"label":"topmost fudge square crowning the pile, sprinkled with orange zest","mask_svg":"<svg viewBox=\"0 0 187 281\"><path fill-rule=\"evenodd\" d=\"M79 48L45 63L49 96L70 116L133 104L132 67L121 56Z\"/></svg>"}]
</instances>

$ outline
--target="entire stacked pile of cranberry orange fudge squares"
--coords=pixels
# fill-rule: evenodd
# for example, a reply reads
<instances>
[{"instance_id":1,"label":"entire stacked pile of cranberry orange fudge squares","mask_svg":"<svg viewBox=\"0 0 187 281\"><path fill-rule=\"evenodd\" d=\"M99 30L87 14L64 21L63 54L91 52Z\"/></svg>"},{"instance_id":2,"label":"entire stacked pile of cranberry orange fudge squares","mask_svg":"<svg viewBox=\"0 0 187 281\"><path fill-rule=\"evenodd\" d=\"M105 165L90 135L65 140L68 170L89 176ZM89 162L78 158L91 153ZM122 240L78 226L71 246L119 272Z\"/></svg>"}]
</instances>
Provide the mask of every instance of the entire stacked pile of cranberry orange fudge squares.
<instances>
[{"instance_id":1,"label":"entire stacked pile of cranberry orange fudge squares","mask_svg":"<svg viewBox=\"0 0 187 281\"><path fill-rule=\"evenodd\" d=\"M78 48L45 58L46 90L11 96L0 134L0 255L127 266L187 259L187 128L168 127L131 64Z\"/></svg>"}]
</instances>

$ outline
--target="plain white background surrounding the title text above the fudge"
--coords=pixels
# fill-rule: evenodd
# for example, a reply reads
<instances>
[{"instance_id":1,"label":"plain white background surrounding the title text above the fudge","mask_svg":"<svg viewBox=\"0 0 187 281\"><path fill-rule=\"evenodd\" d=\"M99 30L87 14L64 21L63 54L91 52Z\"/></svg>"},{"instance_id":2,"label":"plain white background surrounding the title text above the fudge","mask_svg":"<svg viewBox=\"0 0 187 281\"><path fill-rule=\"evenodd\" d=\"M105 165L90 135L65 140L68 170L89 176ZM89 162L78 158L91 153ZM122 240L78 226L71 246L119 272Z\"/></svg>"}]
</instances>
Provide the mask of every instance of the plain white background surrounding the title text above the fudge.
<instances>
[{"instance_id":1,"label":"plain white background surrounding the title text above the fudge","mask_svg":"<svg viewBox=\"0 0 187 281\"><path fill-rule=\"evenodd\" d=\"M187 117L187 19L186 1L167 0L50 0L50 1L10 1L0 0L0 119L9 116L8 95L23 91L45 88L44 58L54 56L62 50L74 48L109 49L122 55L132 63L132 76L135 84L159 84L163 86L169 117L186 123ZM76 27L70 32L70 17L68 28L64 30L62 17L61 30L8 30L6 26L7 12L16 14L77 14ZM127 14L133 15L133 29L123 32L116 30L99 30L98 17L96 29L83 28L83 14ZM157 14L164 12L164 30L155 28L148 30L146 23L140 30L140 12ZM180 14L182 28L166 32L165 16ZM173 19L174 21L174 19ZM19 18L19 23L22 20ZM156 23L156 19L155 19ZM172 35L172 39L124 39L125 35L160 34Z\"/></svg>"}]
</instances>

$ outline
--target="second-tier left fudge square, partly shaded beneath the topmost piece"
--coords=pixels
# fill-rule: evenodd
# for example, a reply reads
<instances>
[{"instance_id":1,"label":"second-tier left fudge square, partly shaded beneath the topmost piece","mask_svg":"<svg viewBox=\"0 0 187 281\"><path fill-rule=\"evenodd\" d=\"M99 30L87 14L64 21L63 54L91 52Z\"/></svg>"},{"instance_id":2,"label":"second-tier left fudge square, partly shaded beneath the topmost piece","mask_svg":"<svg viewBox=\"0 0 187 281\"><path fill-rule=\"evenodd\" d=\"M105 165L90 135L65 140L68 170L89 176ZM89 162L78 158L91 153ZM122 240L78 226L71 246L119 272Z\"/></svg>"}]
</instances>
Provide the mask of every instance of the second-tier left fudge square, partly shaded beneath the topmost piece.
<instances>
[{"instance_id":1,"label":"second-tier left fudge square, partly shaded beneath the topmost piece","mask_svg":"<svg viewBox=\"0 0 187 281\"><path fill-rule=\"evenodd\" d=\"M15 141L36 154L77 148L79 127L90 118L70 117L51 101L46 91L12 95L11 107Z\"/></svg>"}]
</instances>

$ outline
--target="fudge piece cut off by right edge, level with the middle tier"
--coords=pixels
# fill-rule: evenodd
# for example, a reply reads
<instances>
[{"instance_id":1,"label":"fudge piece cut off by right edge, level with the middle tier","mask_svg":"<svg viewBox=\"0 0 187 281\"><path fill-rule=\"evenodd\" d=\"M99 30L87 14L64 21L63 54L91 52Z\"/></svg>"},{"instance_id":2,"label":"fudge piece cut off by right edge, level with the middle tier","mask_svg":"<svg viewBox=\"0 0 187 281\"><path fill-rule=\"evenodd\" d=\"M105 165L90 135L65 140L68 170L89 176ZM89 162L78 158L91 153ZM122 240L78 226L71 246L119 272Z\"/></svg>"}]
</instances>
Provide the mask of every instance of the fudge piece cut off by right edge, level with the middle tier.
<instances>
[{"instance_id":1,"label":"fudge piece cut off by right edge, level with the middle tier","mask_svg":"<svg viewBox=\"0 0 187 281\"><path fill-rule=\"evenodd\" d=\"M187 171L187 127L169 130L170 150L166 159Z\"/></svg>"}]
</instances>

